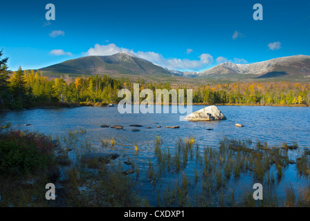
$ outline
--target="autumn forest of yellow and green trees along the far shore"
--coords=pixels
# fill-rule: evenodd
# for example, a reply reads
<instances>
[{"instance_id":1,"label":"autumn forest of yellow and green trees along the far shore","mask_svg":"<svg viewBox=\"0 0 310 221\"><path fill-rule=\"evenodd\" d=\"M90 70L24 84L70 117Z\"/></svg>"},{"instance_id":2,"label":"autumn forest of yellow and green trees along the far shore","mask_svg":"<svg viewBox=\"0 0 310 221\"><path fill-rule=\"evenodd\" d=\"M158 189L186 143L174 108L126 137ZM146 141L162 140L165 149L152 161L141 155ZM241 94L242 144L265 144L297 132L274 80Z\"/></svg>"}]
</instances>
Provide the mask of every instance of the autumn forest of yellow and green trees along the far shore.
<instances>
[{"instance_id":1,"label":"autumn forest of yellow and green trees along the far shore","mask_svg":"<svg viewBox=\"0 0 310 221\"><path fill-rule=\"evenodd\" d=\"M229 84L204 84L197 86L171 86L170 83L135 82L129 78L113 79L107 75L91 77L47 77L35 70L8 71L8 57L1 59L0 51L0 104L1 109L22 109L38 106L104 106L118 103L118 90L133 92L134 83L140 90L174 88L193 90L194 104L246 104L246 105L296 105L309 106L310 84L294 82L237 82ZM186 90L185 90L186 91ZM142 98L141 98L142 99ZM186 95L185 95L186 102Z\"/></svg>"}]
</instances>

